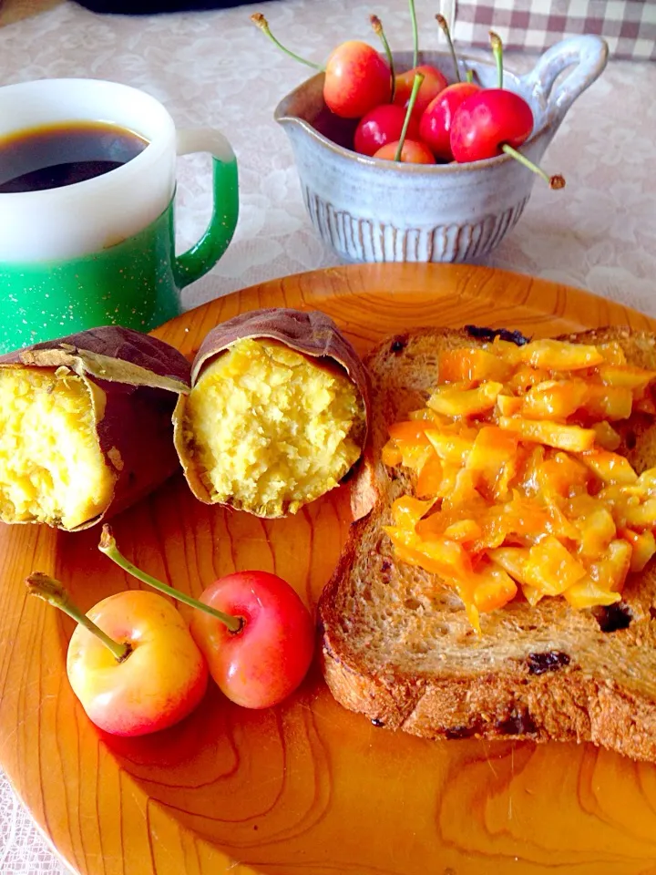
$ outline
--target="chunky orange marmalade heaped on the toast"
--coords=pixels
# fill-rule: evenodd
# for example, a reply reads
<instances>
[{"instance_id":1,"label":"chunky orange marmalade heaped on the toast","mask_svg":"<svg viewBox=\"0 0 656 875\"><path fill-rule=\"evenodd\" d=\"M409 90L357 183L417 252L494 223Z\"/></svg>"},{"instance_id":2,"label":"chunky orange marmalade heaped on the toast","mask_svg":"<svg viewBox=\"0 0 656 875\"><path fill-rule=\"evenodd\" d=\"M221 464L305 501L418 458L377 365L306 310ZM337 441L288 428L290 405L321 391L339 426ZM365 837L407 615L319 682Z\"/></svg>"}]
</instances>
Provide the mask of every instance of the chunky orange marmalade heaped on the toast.
<instances>
[{"instance_id":1,"label":"chunky orange marmalade heaped on the toast","mask_svg":"<svg viewBox=\"0 0 656 875\"><path fill-rule=\"evenodd\" d=\"M399 560L439 575L480 612L620 601L656 552L656 468L639 477L613 423L654 415L656 371L619 344L496 339L439 355L427 406L389 429L388 466L415 472L385 531Z\"/></svg>"}]
</instances>

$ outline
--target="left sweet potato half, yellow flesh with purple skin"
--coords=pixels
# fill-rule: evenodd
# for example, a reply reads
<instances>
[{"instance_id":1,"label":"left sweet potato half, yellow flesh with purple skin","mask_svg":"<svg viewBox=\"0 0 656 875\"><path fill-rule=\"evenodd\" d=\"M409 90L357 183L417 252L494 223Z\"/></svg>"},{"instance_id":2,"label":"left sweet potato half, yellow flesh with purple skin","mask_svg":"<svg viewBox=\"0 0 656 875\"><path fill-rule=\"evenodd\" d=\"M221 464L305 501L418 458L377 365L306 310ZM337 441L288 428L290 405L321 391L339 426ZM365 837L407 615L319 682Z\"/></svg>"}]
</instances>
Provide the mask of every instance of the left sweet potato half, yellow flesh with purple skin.
<instances>
[{"instance_id":1,"label":"left sweet potato half, yellow flesh with purple skin","mask_svg":"<svg viewBox=\"0 0 656 875\"><path fill-rule=\"evenodd\" d=\"M0 356L0 520L87 529L178 468L172 346L117 326Z\"/></svg>"}]
</instances>

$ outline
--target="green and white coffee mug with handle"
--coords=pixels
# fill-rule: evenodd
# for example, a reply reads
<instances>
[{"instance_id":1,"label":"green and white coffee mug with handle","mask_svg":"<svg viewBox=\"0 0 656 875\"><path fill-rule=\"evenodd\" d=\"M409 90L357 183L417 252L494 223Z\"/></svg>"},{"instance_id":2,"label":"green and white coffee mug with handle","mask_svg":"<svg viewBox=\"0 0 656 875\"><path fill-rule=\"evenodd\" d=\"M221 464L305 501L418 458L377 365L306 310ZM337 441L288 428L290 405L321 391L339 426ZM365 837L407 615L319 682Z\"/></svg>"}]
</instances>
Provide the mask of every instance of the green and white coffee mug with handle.
<instances>
[{"instance_id":1,"label":"green and white coffee mug with handle","mask_svg":"<svg viewBox=\"0 0 656 875\"><path fill-rule=\"evenodd\" d=\"M220 131L176 130L158 100L101 79L0 88L0 142L82 122L116 125L146 144L102 175L0 192L0 352L103 324L149 331L179 314L180 290L231 242L237 163ZM176 157L190 152L212 156L213 211L200 241L176 255Z\"/></svg>"}]
</instances>

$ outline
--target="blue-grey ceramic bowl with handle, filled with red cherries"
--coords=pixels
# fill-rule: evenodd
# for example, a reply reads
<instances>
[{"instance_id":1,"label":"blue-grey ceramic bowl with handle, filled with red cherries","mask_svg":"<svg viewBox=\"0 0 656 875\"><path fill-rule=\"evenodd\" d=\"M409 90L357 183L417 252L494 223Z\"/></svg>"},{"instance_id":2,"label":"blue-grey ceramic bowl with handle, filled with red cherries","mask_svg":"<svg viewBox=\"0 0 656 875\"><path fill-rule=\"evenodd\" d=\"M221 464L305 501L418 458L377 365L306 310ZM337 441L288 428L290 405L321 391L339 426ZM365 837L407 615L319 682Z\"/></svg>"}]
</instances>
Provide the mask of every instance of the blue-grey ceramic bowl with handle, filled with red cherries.
<instances>
[{"instance_id":1,"label":"blue-grey ceramic bowl with handle, filled with red cherries","mask_svg":"<svg viewBox=\"0 0 656 875\"><path fill-rule=\"evenodd\" d=\"M287 132L315 230L345 261L466 262L514 227L533 184L565 180L538 166L574 100L606 66L598 36L551 46L526 76L450 51L392 52L359 41L325 66L295 55L261 14L253 22L296 61L315 67L275 109ZM567 72L566 72L567 71ZM560 76L560 74L565 74ZM563 196L566 196L563 193Z\"/></svg>"}]
</instances>

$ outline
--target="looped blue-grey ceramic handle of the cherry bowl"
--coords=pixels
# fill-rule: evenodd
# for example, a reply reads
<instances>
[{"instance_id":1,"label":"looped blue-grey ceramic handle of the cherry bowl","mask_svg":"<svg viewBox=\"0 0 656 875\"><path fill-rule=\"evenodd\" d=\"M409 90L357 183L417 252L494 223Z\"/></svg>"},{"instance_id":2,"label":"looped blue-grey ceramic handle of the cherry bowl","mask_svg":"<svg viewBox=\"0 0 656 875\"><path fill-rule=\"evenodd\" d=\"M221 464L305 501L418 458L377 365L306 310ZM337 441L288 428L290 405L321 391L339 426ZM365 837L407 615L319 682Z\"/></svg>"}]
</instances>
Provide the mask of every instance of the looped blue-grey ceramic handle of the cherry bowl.
<instances>
[{"instance_id":1,"label":"looped blue-grey ceramic handle of the cherry bowl","mask_svg":"<svg viewBox=\"0 0 656 875\"><path fill-rule=\"evenodd\" d=\"M557 127L572 103L603 72L608 61L608 44L600 36L569 36L551 46L527 76L521 77L528 91ZM568 67L576 65L557 88L554 82Z\"/></svg>"}]
</instances>

